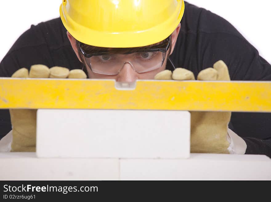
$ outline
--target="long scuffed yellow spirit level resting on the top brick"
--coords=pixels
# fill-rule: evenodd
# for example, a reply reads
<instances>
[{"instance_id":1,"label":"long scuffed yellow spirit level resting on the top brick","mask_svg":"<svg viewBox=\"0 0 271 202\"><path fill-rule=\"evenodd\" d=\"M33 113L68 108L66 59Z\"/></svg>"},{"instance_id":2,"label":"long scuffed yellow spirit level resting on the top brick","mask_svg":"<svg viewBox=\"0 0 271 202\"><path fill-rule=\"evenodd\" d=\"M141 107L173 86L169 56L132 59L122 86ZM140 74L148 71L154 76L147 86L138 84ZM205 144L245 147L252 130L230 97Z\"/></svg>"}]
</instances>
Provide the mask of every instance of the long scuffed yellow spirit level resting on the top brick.
<instances>
[{"instance_id":1,"label":"long scuffed yellow spirit level resting on the top brick","mask_svg":"<svg viewBox=\"0 0 271 202\"><path fill-rule=\"evenodd\" d=\"M271 112L271 82L0 78L0 108Z\"/></svg>"}]
</instances>

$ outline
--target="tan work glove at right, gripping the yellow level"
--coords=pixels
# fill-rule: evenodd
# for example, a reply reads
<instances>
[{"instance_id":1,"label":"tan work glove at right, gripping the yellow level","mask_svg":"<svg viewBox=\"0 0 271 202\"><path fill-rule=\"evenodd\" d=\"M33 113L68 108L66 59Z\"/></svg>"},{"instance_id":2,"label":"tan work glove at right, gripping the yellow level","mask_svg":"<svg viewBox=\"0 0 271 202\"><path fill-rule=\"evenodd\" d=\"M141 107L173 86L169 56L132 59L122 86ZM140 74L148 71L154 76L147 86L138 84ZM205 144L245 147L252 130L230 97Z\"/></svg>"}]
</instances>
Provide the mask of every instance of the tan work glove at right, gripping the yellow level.
<instances>
[{"instance_id":1,"label":"tan work glove at right, gripping the yellow level","mask_svg":"<svg viewBox=\"0 0 271 202\"><path fill-rule=\"evenodd\" d=\"M194 74L183 68L173 73L164 70L156 74L160 80L195 80ZM213 68L200 71L197 80L230 81L227 65L217 61ZM190 112L191 113L191 153L229 153L228 124L231 112Z\"/></svg>"}]
</instances>

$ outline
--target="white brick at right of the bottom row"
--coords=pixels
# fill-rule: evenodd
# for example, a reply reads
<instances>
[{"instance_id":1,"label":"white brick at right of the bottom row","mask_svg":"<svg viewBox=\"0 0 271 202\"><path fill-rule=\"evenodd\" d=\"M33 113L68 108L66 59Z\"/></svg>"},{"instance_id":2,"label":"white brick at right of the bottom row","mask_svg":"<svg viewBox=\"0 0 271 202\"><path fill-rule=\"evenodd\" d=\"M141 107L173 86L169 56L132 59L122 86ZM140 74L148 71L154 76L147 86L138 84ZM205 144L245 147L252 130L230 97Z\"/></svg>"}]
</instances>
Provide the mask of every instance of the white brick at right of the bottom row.
<instances>
[{"instance_id":1,"label":"white brick at right of the bottom row","mask_svg":"<svg viewBox=\"0 0 271 202\"><path fill-rule=\"evenodd\" d=\"M271 180L271 159L231 154L191 154L189 159L121 159L120 180Z\"/></svg>"}]
</instances>

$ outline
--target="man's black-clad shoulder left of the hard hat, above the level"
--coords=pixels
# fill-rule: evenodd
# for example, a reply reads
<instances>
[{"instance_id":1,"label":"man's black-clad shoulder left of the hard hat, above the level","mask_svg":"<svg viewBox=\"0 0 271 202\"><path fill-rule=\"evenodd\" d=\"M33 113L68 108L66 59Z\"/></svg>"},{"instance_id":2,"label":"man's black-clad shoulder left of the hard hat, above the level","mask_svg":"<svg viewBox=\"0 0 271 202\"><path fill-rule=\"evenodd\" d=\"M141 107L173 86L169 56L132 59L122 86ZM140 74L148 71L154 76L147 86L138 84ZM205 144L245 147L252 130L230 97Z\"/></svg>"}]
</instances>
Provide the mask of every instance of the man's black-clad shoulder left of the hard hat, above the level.
<instances>
[{"instance_id":1,"label":"man's black-clad shoulder left of the hard hat, above the level","mask_svg":"<svg viewBox=\"0 0 271 202\"><path fill-rule=\"evenodd\" d=\"M10 77L17 69L43 64L74 68L80 65L60 18L32 25L14 43L0 63L0 76Z\"/></svg>"}]
</instances>

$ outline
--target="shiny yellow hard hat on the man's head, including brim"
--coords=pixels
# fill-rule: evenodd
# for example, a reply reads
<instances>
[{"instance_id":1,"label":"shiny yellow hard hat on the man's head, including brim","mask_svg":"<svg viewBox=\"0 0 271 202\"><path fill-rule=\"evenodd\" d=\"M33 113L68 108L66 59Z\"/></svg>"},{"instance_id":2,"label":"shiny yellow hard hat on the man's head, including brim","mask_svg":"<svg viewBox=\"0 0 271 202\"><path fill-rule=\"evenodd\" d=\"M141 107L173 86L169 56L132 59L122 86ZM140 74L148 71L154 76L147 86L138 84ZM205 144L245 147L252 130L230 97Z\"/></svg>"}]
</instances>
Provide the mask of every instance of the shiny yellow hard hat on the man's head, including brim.
<instances>
[{"instance_id":1,"label":"shiny yellow hard hat on the man's head, including brim","mask_svg":"<svg viewBox=\"0 0 271 202\"><path fill-rule=\"evenodd\" d=\"M184 14L183 0L62 0L60 17L78 41L131 48L163 41Z\"/></svg>"}]
</instances>

